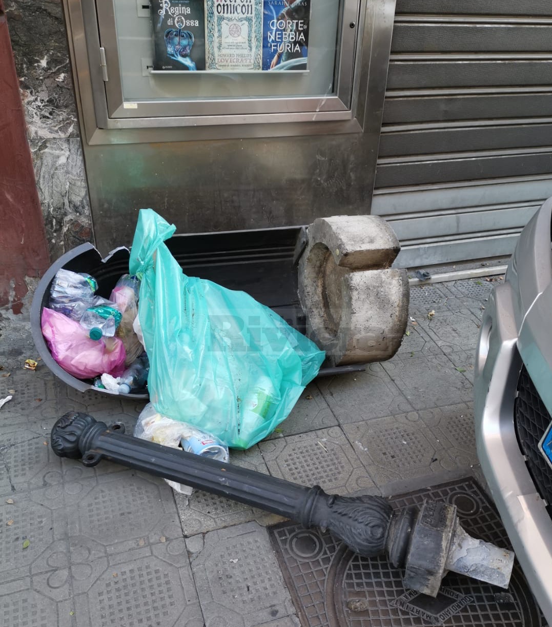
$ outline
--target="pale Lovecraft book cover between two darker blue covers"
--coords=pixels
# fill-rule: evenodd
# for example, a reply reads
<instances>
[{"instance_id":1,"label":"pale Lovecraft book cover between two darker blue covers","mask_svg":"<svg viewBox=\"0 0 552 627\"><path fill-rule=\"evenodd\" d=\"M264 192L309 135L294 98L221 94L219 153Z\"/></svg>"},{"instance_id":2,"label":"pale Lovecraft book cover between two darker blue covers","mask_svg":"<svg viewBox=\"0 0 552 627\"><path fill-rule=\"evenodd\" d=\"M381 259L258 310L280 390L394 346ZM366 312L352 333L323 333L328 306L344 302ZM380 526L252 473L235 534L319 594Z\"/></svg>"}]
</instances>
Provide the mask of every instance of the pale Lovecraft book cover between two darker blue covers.
<instances>
[{"instance_id":1,"label":"pale Lovecraft book cover between two darker blue covers","mask_svg":"<svg viewBox=\"0 0 552 627\"><path fill-rule=\"evenodd\" d=\"M207 70L261 70L263 0L206 0Z\"/></svg>"}]
</instances>

